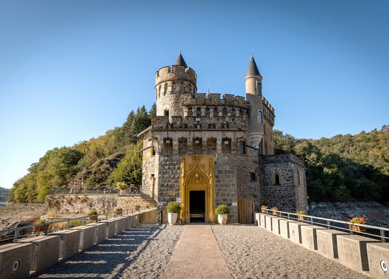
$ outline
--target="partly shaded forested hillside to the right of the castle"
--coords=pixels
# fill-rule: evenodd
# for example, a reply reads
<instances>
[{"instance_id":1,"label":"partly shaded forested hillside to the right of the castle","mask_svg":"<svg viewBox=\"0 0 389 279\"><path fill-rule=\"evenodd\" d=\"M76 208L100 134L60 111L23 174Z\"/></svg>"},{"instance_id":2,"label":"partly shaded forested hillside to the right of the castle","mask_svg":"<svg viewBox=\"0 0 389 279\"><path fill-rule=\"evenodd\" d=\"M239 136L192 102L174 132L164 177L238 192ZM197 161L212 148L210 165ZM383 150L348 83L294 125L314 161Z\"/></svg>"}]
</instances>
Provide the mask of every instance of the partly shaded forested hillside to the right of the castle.
<instances>
[{"instance_id":1,"label":"partly shaded forested hillside to the right of the castle","mask_svg":"<svg viewBox=\"0 0 389 279\"><path fill-rule=\"evenodd\" d=\"M304 160L310 201L389 201L389 126L318 140L275 130L274 140Z\"/></svg>"}]
</instances>

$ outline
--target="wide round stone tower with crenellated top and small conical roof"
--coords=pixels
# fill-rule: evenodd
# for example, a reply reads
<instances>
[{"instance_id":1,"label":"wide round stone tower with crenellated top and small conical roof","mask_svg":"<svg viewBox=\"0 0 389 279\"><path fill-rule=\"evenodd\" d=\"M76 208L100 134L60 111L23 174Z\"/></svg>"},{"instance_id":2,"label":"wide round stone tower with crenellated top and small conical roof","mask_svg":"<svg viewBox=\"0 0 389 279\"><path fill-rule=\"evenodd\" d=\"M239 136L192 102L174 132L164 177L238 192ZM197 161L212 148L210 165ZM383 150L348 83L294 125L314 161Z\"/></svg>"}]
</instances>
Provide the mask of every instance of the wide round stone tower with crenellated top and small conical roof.
<instances>
[{"instance_id":1,"label":"wide round stone tower with crenellated top and small conical roof","mask_svg":"<svg viewBox=\"0 0 389 279\"><path fill-rule=\"evenodd\" d=\"M193 95L197 91L196 73L181 55L176 62L165 66L156 72L155 98L157 100L157 116L184 116L182 109L182 95Z\"/></svg>"}]
</instances>

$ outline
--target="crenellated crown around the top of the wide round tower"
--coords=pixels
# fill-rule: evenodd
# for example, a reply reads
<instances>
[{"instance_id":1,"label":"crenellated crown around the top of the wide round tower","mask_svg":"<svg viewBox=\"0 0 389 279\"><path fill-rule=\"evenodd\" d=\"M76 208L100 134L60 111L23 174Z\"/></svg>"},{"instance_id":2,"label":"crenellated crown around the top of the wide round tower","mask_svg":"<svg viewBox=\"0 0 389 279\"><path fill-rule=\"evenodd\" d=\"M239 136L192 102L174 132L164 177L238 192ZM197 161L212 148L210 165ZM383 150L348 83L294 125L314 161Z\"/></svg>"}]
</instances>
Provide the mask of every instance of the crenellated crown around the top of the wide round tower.
<instances>
[{"instance_id":1,"label":"crenellated crown around the top of the wide round tower","mask_svg":"<svg viewBox=\"0 0 389 279\"><path fill-rule=\"evenodd\" d=\"M159 69L155 74L155 88L162 83L176 80L189 81L195 86L196 79L197 75L190 67L173 65L171 68L170 66L165 66Z\"/></svg>"}]
</instances>

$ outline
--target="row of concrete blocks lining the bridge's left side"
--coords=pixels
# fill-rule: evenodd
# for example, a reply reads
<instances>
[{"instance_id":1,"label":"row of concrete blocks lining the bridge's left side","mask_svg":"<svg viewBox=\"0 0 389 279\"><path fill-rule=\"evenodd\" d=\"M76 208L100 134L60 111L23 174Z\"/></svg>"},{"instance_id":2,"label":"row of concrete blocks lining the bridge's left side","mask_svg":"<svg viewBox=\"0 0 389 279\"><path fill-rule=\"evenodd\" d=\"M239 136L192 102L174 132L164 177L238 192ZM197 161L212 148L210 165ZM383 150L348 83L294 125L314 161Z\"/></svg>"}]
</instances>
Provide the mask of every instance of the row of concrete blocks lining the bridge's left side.
<instances>
[{"instance_id":1,"label":"row of concrete blocks lining the bridge's left side","mask_svg":"<svg viewBox=\"0 0 389 279\"><path fill-rule=\"evenodd\" d=\"M149 209L88 226L26 238L15 244L1 245L0 279L18 279L34 275L37 271L105 240L108 235L111 237L128 227L156 221L157 209Z\"/></svg>"}]
</instances>

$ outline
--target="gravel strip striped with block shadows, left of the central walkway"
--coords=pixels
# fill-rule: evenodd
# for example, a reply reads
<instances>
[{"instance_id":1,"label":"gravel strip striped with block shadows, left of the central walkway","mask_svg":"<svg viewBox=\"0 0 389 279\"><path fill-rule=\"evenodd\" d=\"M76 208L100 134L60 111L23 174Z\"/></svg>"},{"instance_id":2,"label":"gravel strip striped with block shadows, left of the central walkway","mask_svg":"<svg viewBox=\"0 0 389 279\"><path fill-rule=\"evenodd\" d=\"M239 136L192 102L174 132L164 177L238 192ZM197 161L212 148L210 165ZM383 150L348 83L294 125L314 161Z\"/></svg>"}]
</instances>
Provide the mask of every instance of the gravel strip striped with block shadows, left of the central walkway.
<instances>
[{"instance_id":1,"label":"gravel strip striped with block shadows, left of the central walkway","mask_svg":"<svg viewBox=\"0 0 389 279\"><path fill-rule=\"evenodd\" d=\"M183 226L140 225L34 278L161 278L182 231Z\"/></svg>"}]
</instances>

